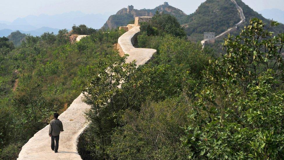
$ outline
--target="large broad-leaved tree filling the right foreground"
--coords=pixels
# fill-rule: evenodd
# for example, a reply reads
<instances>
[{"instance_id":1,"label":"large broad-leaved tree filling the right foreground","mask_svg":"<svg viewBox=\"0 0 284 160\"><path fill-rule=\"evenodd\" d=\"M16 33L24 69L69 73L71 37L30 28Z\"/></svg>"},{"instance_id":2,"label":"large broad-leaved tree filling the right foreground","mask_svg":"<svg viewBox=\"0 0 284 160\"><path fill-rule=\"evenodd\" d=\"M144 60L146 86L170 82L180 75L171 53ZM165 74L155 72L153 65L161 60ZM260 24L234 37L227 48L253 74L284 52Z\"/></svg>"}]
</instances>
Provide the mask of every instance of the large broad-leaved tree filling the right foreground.
<instances>
[{"instance_id":1,"label":"large broad-leaved tree filling the right foreground","mask_svg":"<svg viewBox=\"0 0 284 160\"><path fill-rule=\"evenodd\" d=\"M205 86L181 139L190 159L283 157L284 34L272 34L251 20L239 36L228 36L227 54L203 72Z\"/></svg>"}]
</instances>

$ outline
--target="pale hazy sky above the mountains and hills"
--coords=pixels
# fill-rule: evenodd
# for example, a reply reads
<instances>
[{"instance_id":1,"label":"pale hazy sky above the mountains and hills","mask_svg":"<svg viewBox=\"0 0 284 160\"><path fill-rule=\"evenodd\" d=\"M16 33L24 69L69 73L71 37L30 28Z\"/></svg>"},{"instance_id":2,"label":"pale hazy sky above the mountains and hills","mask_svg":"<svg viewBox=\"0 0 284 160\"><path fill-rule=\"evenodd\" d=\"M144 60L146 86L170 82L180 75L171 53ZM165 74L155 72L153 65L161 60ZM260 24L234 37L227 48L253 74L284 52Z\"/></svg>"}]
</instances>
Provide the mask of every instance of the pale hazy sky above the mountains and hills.
<instances>
[{"instance_id":1,"label":"pale hazy sky above the mountains and hills","mask_svg":"<svg viewBox=\"0 0 284 160\"><path fill-rule=\"evenodd\" d=\"M205 0L0 0L0 20L13 21L27 15L54 15L77 10L83 13L114 14L128 5L133 5L135 9L152 9L164 1L190 14ZM243 1L256 11L271 8L284 10L284 0Z\"/></svg>"}]
</instances>

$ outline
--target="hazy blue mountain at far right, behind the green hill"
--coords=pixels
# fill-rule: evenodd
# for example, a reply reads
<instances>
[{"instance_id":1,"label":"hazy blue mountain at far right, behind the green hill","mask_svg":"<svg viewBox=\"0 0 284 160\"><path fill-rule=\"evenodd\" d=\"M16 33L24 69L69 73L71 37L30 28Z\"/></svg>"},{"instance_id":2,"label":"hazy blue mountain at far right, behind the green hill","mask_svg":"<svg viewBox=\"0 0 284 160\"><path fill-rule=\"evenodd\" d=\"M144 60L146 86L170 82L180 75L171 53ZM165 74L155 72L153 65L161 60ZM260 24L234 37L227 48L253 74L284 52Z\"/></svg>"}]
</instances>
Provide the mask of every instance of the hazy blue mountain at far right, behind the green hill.
<instances>
[{"instance_id":1,"label":"hazy blue mountain at far right, behind the green hill","mask_svg":"<svg viewBox=\"0 0 284 160\"><path fill-rule=\"evenodd\" d=\"M280 9L265 9L258 11L258 13L262 14L263 17L273 19L275 21L281 22L284 24L284 11Z\"/></svg>"}]
</instances>

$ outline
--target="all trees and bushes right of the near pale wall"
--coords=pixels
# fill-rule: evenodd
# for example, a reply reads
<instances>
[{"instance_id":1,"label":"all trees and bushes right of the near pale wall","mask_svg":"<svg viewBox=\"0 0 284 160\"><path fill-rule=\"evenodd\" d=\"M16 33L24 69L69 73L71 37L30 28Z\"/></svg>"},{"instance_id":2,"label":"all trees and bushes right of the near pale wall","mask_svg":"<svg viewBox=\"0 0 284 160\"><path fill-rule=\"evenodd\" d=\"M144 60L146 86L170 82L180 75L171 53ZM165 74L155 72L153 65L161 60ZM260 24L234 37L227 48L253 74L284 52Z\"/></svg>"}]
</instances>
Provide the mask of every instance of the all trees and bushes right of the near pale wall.
<instances>
[{"instance_id":1,"label":"all trees and bushes right of the near pale wall","mask_svg":"<svg viewBox=\"0 0 284 160\"><path fill-rule=\"evenodd\" d=\"M109 57L90 70L84 91L91 123L80 138L81 157L281 159L284 34L274 37L268 27L252 19L215 59L186 40L175 17L154 15L137 44L157 49L148 64ZM113 87L120 80L121 88Z\"/></svg>"}]
</instances>

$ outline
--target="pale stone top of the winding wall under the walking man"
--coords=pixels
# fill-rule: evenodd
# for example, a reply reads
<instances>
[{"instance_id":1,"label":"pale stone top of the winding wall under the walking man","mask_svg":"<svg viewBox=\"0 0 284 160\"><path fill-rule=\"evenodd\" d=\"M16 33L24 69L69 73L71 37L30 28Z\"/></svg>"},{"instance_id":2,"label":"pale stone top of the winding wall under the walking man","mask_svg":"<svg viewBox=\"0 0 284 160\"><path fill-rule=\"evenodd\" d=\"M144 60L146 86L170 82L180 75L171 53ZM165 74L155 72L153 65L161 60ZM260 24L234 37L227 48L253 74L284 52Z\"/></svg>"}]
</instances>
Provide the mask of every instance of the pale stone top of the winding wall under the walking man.
<instances>
[{"instance_id":1,"label":"pale stone top of the winding wall under the walking man","mask_svg":"<svg viewBox=\"0 0 284 160\"><path fill-rule=\"evenodd\" d=\"M140 31L136 26L118 39L118 46L121 54L129 54L126 62L136 59L137 65L145 64L156 52L154 49L134 48L131 39ZM79 37L79 36L78 36ZM80 36L80 39L82 36ZM77 151L78 138L88 126L85 112L90 109L86 103L82 102L83 94L80 94L70 107L63 112L58 119L63 123L64 131L60 134L58 153L51 150L51 138L48 136L49 125L38 131L23 147L18 160L40 160L40 159L81 159Z\"/></svg>"}]
</instances>

